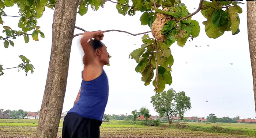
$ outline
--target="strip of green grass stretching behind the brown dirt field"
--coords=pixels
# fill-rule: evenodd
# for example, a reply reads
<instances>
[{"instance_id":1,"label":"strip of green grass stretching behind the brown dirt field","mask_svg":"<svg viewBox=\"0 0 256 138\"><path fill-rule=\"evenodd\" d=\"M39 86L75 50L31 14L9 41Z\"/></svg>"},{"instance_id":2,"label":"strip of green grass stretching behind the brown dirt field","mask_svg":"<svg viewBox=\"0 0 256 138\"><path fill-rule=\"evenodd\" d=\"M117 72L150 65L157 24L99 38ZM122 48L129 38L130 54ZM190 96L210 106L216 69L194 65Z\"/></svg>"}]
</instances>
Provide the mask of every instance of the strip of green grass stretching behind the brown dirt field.
<instances>
[{"instance_id":1,"label":"strip of green grass stretching behind the brown dirt field","mask_svg":"<svg viewBox=\"0 0 256 138\"><path fill-rule=\"evenodd\" d=\"M101 124L101 128L151 128L151 129L159 129L161 126L145 126L141 125L141 121L109 121L103 122ZM246 135L246 136L256 136L255 124L247 124L247 123L211 123L206 124L203 122L186 122L182 124L176 125L175 122L173 125L169 125L165 123L165 129L181 129L183 131L201 131L204 130L205 132L211 133L225 133L225 134L235 134L235 135ZM33 127L38 125L37 119L0 119L0 126L25 126L25 127ZM63 126L63 119L60 120L59 127Z\"/></svg>"}]
</instances>

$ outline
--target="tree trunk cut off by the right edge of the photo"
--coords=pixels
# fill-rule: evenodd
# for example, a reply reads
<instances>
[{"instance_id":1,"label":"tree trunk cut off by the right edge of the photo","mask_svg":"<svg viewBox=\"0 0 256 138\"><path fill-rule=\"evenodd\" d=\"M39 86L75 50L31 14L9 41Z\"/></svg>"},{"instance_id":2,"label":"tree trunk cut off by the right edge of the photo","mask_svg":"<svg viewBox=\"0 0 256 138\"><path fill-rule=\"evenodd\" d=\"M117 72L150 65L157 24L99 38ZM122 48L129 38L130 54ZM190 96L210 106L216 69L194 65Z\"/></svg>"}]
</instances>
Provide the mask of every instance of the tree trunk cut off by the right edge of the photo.
<instances>
[{"instance_id":1,"label":"tree trunk cut off by the right edge of the photo","mask_svg":"<svg viewBox=\"0 0 256 138\"><path fill-rule=\"evenodd\" d=\"M256 1L247 1L247 30L252 65L253 92L256 113Z\"/></svg>"}]
</instances>

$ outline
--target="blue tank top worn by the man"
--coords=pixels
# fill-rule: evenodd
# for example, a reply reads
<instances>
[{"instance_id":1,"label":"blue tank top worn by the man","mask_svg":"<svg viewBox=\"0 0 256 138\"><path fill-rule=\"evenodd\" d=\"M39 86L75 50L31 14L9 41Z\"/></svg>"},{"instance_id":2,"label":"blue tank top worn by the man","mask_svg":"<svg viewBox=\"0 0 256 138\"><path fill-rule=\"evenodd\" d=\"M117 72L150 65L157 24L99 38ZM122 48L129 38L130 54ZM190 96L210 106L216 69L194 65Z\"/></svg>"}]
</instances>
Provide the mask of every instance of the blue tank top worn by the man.
<instances>
[{"instance_id":1,"label":"blue tank top worn by the man","mask_svg":"<svg viewBox=\"0 0 256 138\"><path fill-rule=\"evenodd\" d=\"M102 121L108 96L108 77L102 69L102 74L98 78L90 81L82 80L79 100L68 113L76 113L85 118Z\"/></svg>"}]
</instances>

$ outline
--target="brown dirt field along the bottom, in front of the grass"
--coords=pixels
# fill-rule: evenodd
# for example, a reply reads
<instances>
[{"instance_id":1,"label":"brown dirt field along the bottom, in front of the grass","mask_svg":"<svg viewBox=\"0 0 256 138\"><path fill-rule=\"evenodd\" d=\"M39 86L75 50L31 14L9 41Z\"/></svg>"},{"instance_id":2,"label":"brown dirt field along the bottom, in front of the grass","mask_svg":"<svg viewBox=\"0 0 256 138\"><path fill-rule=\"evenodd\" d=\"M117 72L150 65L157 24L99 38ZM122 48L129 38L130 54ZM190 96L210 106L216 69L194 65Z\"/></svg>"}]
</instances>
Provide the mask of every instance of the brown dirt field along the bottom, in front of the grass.
<instances>
[{"instance_id":1,"label":"brown dirt field along the bottom, in front of the grass","mask_svg":"<svg viewBox=\"0 0 256 138\"><path fill-rule=\"evenodd\" d=\"M35 126L1 126L0 138L33 138ZM57 138L61 138L62 128L59 127ZM101 127L101 138L249 138L237 135L206 133L161 127Z\"/></svg>"}]
</instances>

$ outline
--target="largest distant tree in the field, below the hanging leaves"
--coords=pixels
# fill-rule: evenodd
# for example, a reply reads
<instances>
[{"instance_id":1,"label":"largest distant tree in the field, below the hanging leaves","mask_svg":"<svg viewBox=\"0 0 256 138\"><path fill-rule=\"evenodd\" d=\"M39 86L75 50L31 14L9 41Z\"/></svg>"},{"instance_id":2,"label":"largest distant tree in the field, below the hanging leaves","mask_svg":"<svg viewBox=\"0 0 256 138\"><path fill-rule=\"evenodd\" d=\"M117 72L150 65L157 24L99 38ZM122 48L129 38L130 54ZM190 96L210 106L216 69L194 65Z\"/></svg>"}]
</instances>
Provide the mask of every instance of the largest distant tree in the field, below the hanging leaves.
<instances>
[{"instance_id":1,"label":"largest distant tree in the field, below the hanging leaves","mask_svg":"<svg viewBox=\"0 0 256 138\"><path fill-rule=\"evenodd\" d=\"M172 124L170 117L174 115L183 119L184 113L191 109L190 98L185 95L185 92L176 93L173 88L163 91L161 94L156 92L151 97L151 103L160 117L166 116L168 118L169 124Z\"/></svg>"}]
</instances>

